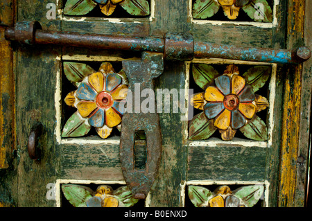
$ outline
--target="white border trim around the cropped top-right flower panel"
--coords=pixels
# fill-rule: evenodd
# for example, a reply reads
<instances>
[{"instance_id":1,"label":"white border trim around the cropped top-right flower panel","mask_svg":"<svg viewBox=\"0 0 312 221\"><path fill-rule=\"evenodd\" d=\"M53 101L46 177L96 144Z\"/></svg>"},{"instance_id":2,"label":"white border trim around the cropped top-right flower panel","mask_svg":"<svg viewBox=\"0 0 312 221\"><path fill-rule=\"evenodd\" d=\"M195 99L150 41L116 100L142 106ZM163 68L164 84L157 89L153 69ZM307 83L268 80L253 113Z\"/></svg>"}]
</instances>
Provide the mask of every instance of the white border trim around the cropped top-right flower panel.
<instances>
[{"instance_id":1,"label":"white border trim around the cropped top-right flower panel","mask_svg":"<svg viewBox=\"0 0 312 221\"><path fill-rule=\"evenodd\" d=\"M277 6L279 5L279 0L274 0L273 3L273 11L272 11L272 15L273 15L273 21L271 23L268 22L257 22L257 21L211 21L208 19L193 19L193 13L192 13L192 9L193 9L193 4L192 4L192 0L189 0L189 18L191 19L191 23L193 24L212 24L214 26L220 26L223 24L234 24L236 26L256 26L259 28L273 28L275 26L277 26Z\"/></svg>"}]
</instances>

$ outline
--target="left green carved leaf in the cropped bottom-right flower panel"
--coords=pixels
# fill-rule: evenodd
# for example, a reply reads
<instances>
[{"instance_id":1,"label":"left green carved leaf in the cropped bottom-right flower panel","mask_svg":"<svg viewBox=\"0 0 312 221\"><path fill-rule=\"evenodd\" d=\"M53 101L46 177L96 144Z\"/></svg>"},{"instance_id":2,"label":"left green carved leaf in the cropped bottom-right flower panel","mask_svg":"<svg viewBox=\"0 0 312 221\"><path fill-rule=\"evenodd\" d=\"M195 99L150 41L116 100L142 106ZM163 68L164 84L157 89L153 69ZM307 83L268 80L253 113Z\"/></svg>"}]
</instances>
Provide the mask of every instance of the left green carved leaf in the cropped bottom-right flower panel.
<instances>
[{"instance_id":1,"label":"left green carved leaf in the cropped bottom-right flower panel","mask_svg":"<svg viewBox=\"0 0 312 221\"><path fill-rule=\"evenodd\" d=\"M189 186L189 199L196 207L207 206L213 197L209 189L202 186Z\"/></svg>"}]
</instances>

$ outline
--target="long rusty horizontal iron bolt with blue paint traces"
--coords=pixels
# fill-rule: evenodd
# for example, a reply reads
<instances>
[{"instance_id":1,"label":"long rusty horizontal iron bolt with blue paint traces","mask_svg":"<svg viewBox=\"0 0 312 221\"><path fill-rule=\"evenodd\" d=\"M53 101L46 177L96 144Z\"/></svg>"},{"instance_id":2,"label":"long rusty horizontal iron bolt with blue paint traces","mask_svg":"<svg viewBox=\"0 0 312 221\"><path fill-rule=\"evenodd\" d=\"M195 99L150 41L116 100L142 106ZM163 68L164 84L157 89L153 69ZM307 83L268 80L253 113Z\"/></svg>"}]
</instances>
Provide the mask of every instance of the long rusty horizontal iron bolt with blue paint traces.
<instances>
[{"instance_id":1,"label":"long rusty horizontal iron bolt with blue paint traces","mask_svg":"<svg viewBox=\"0 0 312 221\"><path fill-rule=\"evenodd\" d=\"M281 64L302 63L311 57L305 46L294 50L273 48L247 48L226 44L196 42L192 35L167 34L164 38L120 37L89 35L41 30L36 21L19 21L15 27L6 28L5 37L23 44L58 44L100 49L127 51L152 51L164 54L166 60L191 60L192 58L223 58Z\"/></svg>"}]
</instances>

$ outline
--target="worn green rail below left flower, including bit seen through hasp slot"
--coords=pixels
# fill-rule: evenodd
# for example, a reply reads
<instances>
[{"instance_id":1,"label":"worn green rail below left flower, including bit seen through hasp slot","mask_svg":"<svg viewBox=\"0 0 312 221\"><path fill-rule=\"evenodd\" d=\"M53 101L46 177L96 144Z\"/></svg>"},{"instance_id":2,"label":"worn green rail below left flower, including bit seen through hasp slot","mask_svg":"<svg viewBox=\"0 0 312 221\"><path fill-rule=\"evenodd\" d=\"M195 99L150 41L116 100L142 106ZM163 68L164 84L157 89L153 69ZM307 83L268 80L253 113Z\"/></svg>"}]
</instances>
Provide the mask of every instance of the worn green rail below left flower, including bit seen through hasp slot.
<instances>
[{"instance_id":1,"label":"worn green rail below left flower, including bit seen through hasp slot","mask_svg":"<svg viewBox=\"0 0 312 221\"><path fill-rule=\"evenodd\" d=\"M62 144L59 148L61 149L59 173L61 179L123 180L119 144L105 145L103 142L100 144ZM136 141L135 148L136 166L144 168L146 161L144 141Z\"/></svg>"}]
</instances>

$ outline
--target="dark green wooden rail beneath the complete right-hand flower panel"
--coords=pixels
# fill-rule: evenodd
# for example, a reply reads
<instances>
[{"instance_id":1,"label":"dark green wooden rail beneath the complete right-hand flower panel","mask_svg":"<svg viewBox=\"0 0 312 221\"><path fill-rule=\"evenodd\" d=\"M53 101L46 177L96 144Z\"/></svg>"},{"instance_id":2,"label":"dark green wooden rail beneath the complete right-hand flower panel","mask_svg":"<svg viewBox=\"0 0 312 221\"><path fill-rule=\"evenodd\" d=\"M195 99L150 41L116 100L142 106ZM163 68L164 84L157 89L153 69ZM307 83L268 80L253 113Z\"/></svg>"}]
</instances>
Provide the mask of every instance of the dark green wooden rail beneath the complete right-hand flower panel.
<instances>
[{"instance_id":1,"label":"dark green wooden rail beneath the complete right-hand flower panel","mask_svg":"<svg viewBox=\"0 0 312 221\"><path fill-rule=\"evenodd\" d=\"M189 147L187 180L264 181L266 148Z\"/></svg>"}]
</instances>

